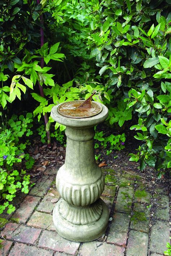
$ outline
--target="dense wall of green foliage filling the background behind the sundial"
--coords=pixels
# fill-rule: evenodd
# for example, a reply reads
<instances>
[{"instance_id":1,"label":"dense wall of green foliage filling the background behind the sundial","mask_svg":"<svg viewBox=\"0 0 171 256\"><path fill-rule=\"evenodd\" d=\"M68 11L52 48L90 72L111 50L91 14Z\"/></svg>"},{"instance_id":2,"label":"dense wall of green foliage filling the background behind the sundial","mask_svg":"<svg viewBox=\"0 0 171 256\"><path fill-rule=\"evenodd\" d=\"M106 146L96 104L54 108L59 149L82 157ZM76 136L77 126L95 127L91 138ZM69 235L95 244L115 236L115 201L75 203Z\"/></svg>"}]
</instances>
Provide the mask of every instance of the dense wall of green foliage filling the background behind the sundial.
<instances>
[{"instance_id":1,"label":"dense wall of green foliage filling the background behind the sundial","mask_svg":"<svg viewBox=\"0 0 171 256\"><path fill-rule=\"evenodd\" d=\"M31 108L40 121L54 105L86 99L95 91L93 100L109 108L109 129L137 131L140 146L130 161L140 160L141 170L154 167L158 177L171 167L169 0L0 0L0 7L0 103L9 126L13 112ZM40 96L38 83L45 96ZM37 132L45 142L53 127L52 136L62 142L65 126L52 122L49 117ZM1 131L5 136L6 129ZM96 137L105 145L118 140ZM17 158L17 150L13 152ZM12 173L6 164L3 170Z\"/></svg>"}]
</instances>

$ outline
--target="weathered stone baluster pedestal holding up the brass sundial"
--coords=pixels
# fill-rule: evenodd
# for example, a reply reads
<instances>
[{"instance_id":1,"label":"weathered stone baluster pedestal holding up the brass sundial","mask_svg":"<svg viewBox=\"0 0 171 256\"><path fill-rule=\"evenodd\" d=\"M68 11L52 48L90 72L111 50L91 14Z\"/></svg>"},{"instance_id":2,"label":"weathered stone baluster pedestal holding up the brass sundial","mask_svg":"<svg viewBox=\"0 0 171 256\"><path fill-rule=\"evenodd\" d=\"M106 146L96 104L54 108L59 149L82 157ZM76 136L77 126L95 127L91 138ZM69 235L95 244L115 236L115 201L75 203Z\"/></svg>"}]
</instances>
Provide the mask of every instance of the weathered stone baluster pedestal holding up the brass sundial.
<instances>
[{"instance_id":1,"label":"weathered stone baluster pedestal holding up the brass sundial","mask_svg":"<svg viewBox=\"0 0 171 256\"><path fill-rule=\"evenodd\" d=\"M100 103L99 103L100 104ZM65 164L56 176L57 190L61 199L53 210L53 223L63 238L73 241L92 241L104 234L109 212L100 199L104 190L104 176L95 162L93 137L94 126L108 116L108 108L88 118L69 118L52 108L52 118L66 125Z\"/></svg>"}]
</instances>

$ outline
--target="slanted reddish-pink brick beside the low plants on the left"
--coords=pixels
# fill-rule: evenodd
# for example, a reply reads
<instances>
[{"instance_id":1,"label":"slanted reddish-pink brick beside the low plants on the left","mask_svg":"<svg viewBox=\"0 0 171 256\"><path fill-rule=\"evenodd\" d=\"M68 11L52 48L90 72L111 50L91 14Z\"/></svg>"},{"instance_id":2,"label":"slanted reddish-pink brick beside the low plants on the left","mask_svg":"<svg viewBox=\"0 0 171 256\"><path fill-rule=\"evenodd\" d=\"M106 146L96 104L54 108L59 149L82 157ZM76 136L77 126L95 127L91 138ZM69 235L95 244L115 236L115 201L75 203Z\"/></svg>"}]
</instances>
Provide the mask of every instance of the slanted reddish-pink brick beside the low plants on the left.
<instances>
[{"instance_id":1,"label":"slanted reddish-pink brick beside the low plants on the left","mask_svg":"<svg viewBox=\"0 0 171 256\"><path fill-rule=\"evenodd\" d=\"M34 211L34 208L38 204L40 197L33 197L27 195L23 202L19 205L19 208L13 214L13 218L17 218L19 223L26 223L30 214Z\"/></svg>"}]
</instances>

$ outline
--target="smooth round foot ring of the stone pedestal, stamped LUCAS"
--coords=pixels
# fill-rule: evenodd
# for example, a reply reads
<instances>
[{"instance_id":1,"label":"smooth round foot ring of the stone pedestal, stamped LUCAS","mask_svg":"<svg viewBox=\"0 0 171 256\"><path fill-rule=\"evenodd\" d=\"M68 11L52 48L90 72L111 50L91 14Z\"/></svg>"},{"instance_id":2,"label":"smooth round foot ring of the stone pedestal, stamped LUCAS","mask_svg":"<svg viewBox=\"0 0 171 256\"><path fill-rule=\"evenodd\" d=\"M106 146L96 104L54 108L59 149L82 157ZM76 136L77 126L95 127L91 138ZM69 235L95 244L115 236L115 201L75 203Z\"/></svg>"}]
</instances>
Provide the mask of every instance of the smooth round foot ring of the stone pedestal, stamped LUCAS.
<instances>
[{"instance_id":1,"label":"smooth round foot ring of the stone pedestal, stamped LUCAS","mask_svg":"<svg viewBox=\"0 0 171 256\"><path fill-rule=\"evenodd\" d=\"M88 242L99 238L104 234L109 220L109 211L102 199L98 201L102 205L102 213L98 220L88 224L73 224L64 219L60 214L61 198L53 209L53 223L60 236L71 241Z\"/></svg>"}]
</instances>

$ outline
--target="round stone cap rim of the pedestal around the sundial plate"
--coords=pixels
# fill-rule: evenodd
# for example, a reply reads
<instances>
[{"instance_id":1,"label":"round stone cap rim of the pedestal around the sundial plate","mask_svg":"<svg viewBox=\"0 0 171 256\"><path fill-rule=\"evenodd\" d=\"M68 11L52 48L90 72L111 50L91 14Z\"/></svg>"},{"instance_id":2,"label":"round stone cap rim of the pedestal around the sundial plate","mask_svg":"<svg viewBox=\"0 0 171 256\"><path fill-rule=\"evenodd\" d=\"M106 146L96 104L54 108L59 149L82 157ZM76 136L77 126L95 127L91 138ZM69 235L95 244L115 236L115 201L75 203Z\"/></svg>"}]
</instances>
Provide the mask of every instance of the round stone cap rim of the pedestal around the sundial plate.
<instances>
[{"instance_id":1,"label":"round stone cap rim of the pedestal around the sundial plate","mask_svg":"<svg viewBox=\"0 0 171 256\"><path fill-rule=\"evenodd\" d=\"M108 117L108 108L101 103L98 103L102 107L102 111L98 115L92 116L92 117L86 117L86 118L79 118L79 119L60 115L57 109L61 104L58 104L52 108L51 116L53 120L67 127L75 127L75 128L92 127L102 123Z\"/></svg>"}]
</instances>

